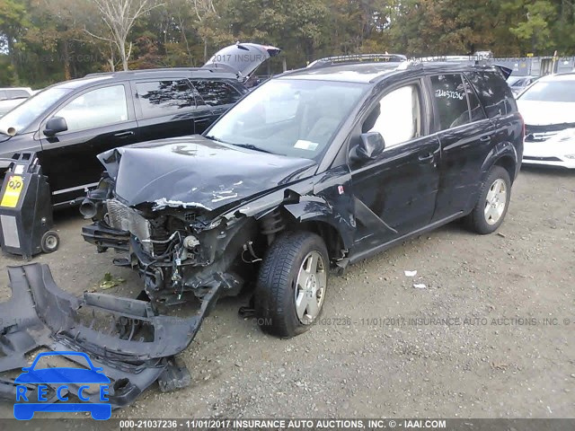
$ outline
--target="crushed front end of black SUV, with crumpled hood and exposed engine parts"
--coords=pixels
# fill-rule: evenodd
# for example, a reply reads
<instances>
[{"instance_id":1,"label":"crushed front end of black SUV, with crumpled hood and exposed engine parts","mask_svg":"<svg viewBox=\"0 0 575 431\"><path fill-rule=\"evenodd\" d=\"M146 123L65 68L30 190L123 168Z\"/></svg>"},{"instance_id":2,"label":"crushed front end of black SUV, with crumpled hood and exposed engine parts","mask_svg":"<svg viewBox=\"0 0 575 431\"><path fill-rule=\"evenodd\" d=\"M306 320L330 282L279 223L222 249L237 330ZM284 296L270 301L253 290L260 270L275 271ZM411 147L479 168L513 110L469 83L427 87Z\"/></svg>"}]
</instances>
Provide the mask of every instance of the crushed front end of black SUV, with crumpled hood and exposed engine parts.
<instances>
[{"instance_id":1,"label":"crushed front end of black SUV, with crumpled hood and exposed engine parts","mask_svg":"<svg viewBox=\"0 0 575 431\"><path fill-rule=\"evenodd\" d=\"M336 184L323 189L331 197L318 196L313 161L191 139L101 154L107 174L83 204L94 222L84 226L84 239L122 253L114 263L138 271L155 307L201 300L215 286L237 295L276 235L309 216L349 233L332 235L333 256L344 257L351 199Z\"/></svg>"}]
</instances>

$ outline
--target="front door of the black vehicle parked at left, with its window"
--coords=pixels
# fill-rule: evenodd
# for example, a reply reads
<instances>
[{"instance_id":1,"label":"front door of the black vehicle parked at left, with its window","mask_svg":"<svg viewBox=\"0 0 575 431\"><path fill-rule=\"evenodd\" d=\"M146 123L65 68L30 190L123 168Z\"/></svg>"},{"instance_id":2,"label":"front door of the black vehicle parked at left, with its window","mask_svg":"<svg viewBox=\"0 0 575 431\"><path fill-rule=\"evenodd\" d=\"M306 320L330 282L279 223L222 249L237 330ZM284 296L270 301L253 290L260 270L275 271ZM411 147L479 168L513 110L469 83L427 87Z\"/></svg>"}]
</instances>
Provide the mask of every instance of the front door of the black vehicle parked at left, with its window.
<instances>
[{"instance_id":1,"label":"front door of the black vehicle parked at left, with its window","mask_svg":"<svg viewBox=\"0 0 575 431\"><path fill-rule=\"evenodd\" d=\"M68 129L56 136L42 131L53 117ZM53 203L84 196L102 175L97 154L136 142L137 122L128 82L99 85L75 94L40 124L40 163L49 177Z\"/></svg>"}]
</instances>

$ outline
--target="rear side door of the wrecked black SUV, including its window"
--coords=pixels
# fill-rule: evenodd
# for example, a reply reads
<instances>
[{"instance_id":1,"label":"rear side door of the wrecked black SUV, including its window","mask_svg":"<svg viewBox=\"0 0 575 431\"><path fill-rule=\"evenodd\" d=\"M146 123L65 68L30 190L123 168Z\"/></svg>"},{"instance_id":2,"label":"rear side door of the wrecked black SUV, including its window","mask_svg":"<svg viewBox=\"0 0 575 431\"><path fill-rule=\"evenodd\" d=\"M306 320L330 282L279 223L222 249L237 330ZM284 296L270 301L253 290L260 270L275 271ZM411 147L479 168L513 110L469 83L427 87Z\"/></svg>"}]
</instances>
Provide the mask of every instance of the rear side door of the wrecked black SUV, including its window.
<instances>
[{"instance_id":1,"label":"rear side door of the wrecked black SUV, including its window","mask_svg":"<svg viewBox=\"0 0 575 431\"><path fill-rule=\"evenodd\" d=\"M433 216L438 221L473 205L495 128L464 75L431 75L429 83L441 142L438 201Z\"/></svg>"}]
</instances>

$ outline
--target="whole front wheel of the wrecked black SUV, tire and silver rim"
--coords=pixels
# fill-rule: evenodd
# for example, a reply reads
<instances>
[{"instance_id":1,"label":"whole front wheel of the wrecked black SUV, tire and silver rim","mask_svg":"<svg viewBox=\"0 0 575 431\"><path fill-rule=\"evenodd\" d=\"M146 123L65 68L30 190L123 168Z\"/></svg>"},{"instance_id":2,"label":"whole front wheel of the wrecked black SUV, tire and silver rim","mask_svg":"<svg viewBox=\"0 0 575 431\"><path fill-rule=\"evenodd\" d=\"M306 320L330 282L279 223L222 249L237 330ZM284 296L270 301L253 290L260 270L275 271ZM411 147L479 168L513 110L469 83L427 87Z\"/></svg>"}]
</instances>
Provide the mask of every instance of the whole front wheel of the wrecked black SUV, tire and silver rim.
<instances>
[{"instance_id":1,"label":"whole front wheel of the wrecked black SUV, tire and silver rim","mask_svg":"<svg viewBox=\"0 0 575 431\"><path fill-rule=\"evenodd\" d=\"M315 233L284 233L263 260L255 289L261 329L286 338L309 330L322 312L329 258Z\"/></svg>"}]
</instances>

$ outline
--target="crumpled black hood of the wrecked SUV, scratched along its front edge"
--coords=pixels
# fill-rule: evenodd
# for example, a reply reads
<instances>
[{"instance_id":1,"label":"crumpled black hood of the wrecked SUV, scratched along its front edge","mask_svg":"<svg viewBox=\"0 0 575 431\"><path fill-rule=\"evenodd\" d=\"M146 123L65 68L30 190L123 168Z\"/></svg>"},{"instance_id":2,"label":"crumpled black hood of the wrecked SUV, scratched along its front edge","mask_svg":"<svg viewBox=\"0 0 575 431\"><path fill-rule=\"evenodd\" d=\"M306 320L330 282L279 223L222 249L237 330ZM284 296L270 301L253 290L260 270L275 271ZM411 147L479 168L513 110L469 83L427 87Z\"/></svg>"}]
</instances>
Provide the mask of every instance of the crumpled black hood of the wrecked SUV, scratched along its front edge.
<instances>
[{"instance_id":1,"label":"crumpled black hood of the wrecked SUV, scratched along its front edge","mask_svg":"<svg viewBox=\"0 0 575 431\"><path fill-rule=\"evenodd\" d=\"M128 206L196 207L208 211L314 173L313 160L183 136L120 147L98 156ZM119 162L118 162L119 161Z\"/></svg>"}]
</instances>

